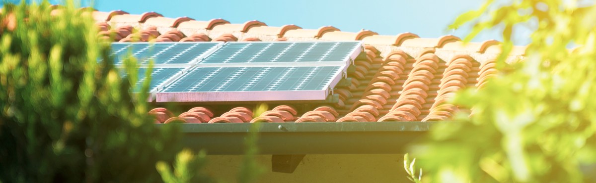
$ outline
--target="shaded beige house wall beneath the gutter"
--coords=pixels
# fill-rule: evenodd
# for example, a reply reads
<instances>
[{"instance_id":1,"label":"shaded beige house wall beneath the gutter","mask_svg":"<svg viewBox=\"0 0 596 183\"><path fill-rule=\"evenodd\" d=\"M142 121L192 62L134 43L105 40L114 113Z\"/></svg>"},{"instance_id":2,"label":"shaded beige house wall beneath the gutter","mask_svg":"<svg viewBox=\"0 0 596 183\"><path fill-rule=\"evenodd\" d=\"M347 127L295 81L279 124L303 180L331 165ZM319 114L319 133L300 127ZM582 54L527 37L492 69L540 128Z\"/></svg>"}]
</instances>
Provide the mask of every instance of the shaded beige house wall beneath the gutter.
<instances>
[{"instance_id":1,"label":"shaded beige house wall beneath the gutter","mask_svg":"<svg viewBox=\"0 0 596 183\"><path fill-rule=\"evenodd\" d=\"M266 172L257 182L409 182L403 154L308 154L294 173L271 171L271 155L256 157ZM236 182L243 156L207 156L206 171L222 182Z\"/></svg>"}]
</instances>

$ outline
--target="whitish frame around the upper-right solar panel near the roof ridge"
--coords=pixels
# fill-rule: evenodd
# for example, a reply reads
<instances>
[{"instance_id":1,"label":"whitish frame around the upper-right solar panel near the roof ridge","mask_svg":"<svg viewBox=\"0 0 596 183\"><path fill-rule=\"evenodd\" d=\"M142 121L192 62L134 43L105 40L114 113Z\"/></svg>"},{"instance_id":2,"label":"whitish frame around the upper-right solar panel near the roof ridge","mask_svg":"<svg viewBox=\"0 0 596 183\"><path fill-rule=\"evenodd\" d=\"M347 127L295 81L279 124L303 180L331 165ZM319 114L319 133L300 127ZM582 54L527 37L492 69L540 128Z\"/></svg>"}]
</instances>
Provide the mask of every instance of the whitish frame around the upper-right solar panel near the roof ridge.
<instances>
[{"instance_id":1,"label":"whitish frame around the upper-right solar panel near the roof ridge","mask_svg":"<svg viewBox=\"0 0 596 183\"><path fill-rule=\"evenodd\" d=\"M234 62L234 63L207 63L203 59L197 63L198 67L221 67L228 65L243 65L246 67L269 67L269 66L337 66L337 65L350 65L353 64L356 57L364 51L362 41L316 41L316 42L227 42L218 51L225 49L228 45L241 45L241 44L270 44L270 43L355 43L356 45L349 52L351 54L344 56L342 59L337 61L299 61L299 62ZM210 57L214 56L218 51L213 52Z\"/></svg>"}]
</instances>

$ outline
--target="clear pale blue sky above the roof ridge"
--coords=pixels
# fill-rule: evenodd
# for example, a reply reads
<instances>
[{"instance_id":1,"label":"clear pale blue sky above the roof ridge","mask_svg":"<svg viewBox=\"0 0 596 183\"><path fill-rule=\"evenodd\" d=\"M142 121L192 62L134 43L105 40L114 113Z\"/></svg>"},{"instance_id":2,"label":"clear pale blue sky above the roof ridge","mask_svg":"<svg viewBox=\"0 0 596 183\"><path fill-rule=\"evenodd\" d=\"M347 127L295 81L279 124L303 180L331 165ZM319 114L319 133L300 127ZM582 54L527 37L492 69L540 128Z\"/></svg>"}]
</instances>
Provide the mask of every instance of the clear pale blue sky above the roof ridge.
<instances>
[{"instance_id":1,"label":"clear pale blue sky above the roof ridge","mask_svg":"<svg viewBox=\"0 0 596 183\"><path fill-rule=\"evenodd\" d=\"M89 2L83 0L83 6ZM259 20L268 26L295 24L303 29L334 26L342 31L367 29L383 35L411 32L429 38L454 34L463 39L469 31L467 27L454 31L447 30L447 26L457 15L475 10L482 3L482 0L95 0L93 4L99 11L123 10L131 14L155 11L173 18L224 18L231 23ZM473 41L489 39L501 40L499 31L481 33Z\"/></svg>"}]
</instances>

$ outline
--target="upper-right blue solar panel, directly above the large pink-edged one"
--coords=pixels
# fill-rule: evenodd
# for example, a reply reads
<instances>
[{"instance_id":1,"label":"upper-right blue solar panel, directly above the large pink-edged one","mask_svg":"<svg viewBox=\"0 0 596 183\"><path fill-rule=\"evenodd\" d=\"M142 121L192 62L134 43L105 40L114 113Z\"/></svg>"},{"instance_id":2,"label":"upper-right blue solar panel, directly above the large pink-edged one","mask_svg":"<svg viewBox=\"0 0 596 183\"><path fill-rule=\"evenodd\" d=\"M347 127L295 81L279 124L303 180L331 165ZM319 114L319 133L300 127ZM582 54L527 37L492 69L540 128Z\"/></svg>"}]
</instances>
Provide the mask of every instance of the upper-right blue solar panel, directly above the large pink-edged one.
<instances>
[{"instance_id":1,"label":"upper-right blue solar panel, directly above the large pink-edged one","mask_svg":"<svg viewBox=\"0 0 596 183\"><path fill-rule=\"evenodd\" d=\"M360 42L234 42L226 43L198 65L345 65L358 56L360 48Z\"/></svg>"}]
</instances>

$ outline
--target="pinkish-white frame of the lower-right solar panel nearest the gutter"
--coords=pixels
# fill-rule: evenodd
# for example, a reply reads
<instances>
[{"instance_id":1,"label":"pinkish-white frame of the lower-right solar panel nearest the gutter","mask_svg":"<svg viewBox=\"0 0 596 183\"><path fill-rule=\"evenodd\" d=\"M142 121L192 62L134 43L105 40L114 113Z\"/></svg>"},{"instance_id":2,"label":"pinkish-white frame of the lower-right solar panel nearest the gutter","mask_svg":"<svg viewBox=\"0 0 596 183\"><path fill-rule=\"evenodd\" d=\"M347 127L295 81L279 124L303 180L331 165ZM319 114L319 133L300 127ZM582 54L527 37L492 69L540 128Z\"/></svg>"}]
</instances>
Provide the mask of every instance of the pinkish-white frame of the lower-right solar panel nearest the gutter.
<instances>
[{"instance_id":1,"label":"pinkish-white frame of the lower-right solar panel nearest the gutter","mask_svg":"<svg viewBox=\"0 0 596 183\"><path fill-rule=\"evenodd\" d=\"M238 66L236 66L238 67ZM276 66L277 67L277 66ZM294 66L317 67L317 66ZM346 76L346 67L339 67L331 79L322 86L322 90L280 90L246 92L164 92L167 87L156 93L156 102L240 102L240 101L280 101L280 100L325 100L333 94L333 86ZM205 67L195 67L205 68ZM230 67L219 67L230 68ZM231 74L230 74L231 75ZM172 83L173 84L173 83Z\"/></svg>"}]
</instances>

